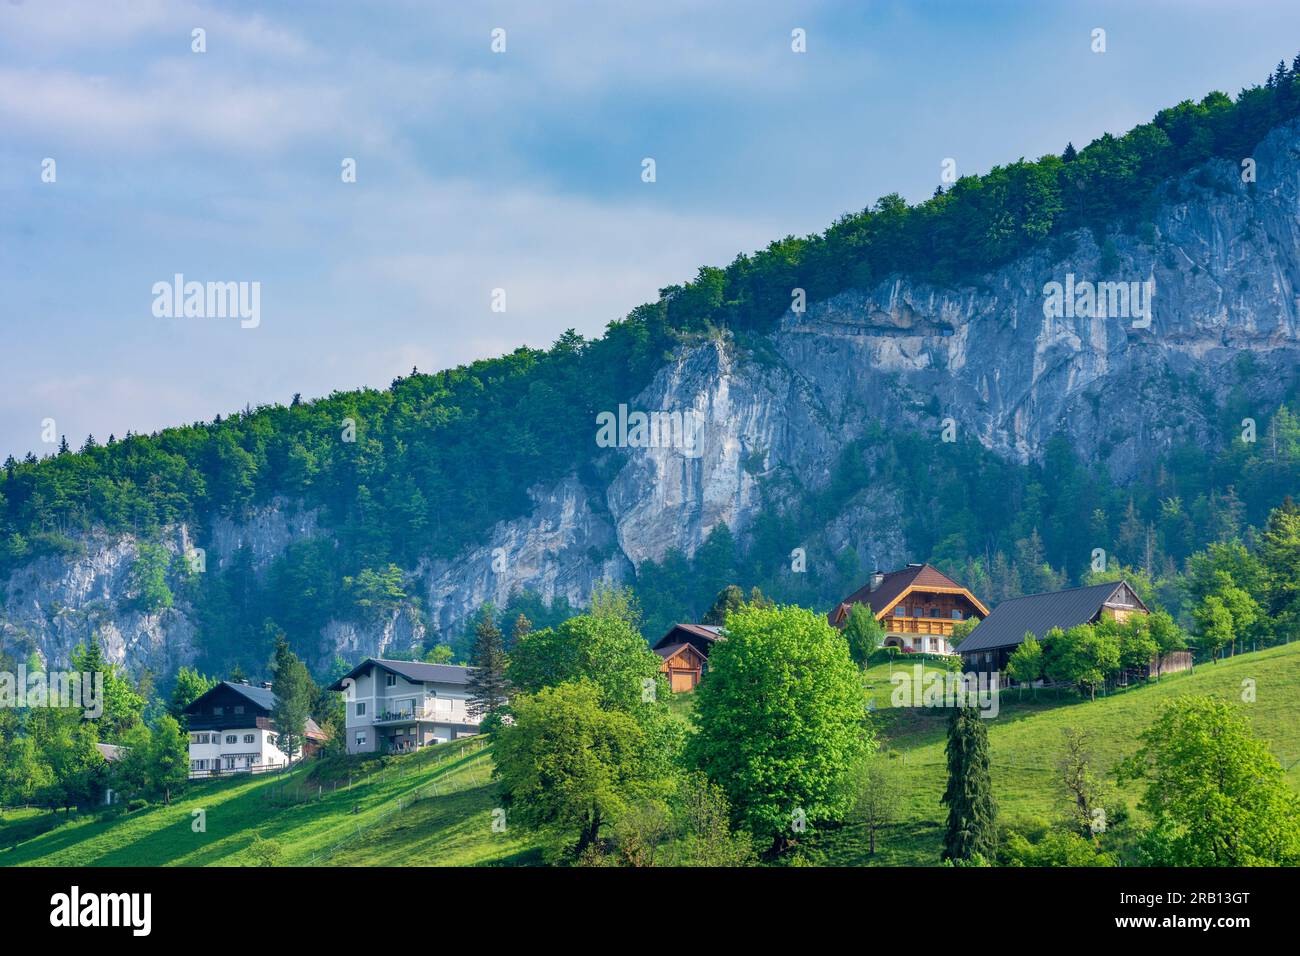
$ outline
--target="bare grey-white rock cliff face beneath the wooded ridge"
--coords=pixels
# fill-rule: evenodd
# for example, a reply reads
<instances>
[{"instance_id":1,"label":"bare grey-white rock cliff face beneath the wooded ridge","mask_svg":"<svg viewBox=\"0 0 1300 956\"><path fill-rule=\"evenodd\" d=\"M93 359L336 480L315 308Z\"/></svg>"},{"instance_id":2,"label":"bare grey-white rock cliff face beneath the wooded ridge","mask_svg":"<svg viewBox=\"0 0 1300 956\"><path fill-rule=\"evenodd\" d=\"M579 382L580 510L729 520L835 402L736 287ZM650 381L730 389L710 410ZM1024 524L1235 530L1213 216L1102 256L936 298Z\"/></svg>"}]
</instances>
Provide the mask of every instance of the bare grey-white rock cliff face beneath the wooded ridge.
<instances>
[{"instance_id":1,"label":"bare grey-white rock cliff face beneath the wooded ridge","mask_svg":"<svg viewBox=\"0 0 1300 956\"><path fill-rule=\"evenodd\" d=\"M612 479L580 480L588 471L575 463L573 475L533 489L528 514L465 542L455 559L412 568L429 626L451 633L514 588L582 604L602 578L627 578L671 548L692 554L720 522L744 537L762 509L822 486L844 442L876 421L936 437L948 428L1022 462L1063 428L1119 480L1175 440L1222 445L1231 436L1213 411L1240 380L1240 356L1252 359L1261 416L1300 365L1300 129L1275 130L1253 159L1257 182L1210 164L1173 183L1153 232L1113 237L1106 248L1078 234L958 287L896 277L788 313L758 349L719 339L684 350L628 410L676 412L694 423L693 441L647 447L629 434L601 450L593 423L597 472ZM1091 285L1105 304L1053 313L1053 282ZM867 486L826 515L822 533L863 562L892 564L910 559L898 528L897 494ZM170 546L185 548L185 533L174 529ZM246 545L265 564L316 533L313 514L280 502L217 523L211 546L218 563ZM91 536L86 546L84 557L16 572L4 626L53 658L95 630L127 663L166 671L191 656L186 609L129 609L134 541ZM424 627L410 609L333 622L321 659L419 644Z\"/></svg>"}]
</instances>

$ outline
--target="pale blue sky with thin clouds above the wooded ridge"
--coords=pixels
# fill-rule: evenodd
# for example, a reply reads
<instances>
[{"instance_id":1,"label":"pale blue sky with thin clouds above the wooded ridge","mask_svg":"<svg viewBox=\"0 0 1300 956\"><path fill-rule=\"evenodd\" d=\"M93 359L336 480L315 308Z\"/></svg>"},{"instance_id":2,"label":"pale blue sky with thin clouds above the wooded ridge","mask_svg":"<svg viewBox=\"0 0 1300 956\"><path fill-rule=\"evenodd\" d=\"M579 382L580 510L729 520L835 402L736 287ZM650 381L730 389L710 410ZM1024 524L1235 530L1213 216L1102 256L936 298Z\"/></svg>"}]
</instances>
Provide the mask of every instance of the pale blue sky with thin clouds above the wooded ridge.
<instances>
[{"instance_id":1,"label":"pale blue sky with thin clouds above the wooded ridge","mask_svg":"<svg viewBox=\"0 0 1300 956\"><path fill-rule=\"evenodd\" d=\"M1082 146L1297 49L1280 1L0 0L0 457L47 418L75 446L597 334L945 157ZM260 282L260 325L155 317L174 273Z\"/></svg>"}]
</instances>

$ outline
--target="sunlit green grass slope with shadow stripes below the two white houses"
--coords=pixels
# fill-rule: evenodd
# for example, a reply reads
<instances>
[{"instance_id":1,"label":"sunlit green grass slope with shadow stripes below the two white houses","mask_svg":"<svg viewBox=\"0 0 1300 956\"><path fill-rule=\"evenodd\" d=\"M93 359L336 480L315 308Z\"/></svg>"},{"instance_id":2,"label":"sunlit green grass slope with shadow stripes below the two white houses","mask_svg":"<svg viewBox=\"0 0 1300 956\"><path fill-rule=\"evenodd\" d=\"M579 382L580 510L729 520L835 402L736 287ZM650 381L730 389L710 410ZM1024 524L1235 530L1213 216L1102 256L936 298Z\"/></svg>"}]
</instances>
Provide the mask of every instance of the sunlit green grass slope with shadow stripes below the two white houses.
<instances>
[{"instance_id":1,"label":"sunlit green grass slope with shadow stripes below the two white houses","mask_svg":"<svg viewBox=\"0 0 1300 956\"><path fill-rule=\"evenodd\" d=\"M255 835L280 844L285 865L536 861L523 834L491 831L495 800L482 741L329 770L196 783L172 806L78 818L35 838L30 816L6 816L0 865L240 866L254 861ZM198 810L207 832L192 831ZM16 840L23 842L13 848Z\"/></svg>"}]
</instances>

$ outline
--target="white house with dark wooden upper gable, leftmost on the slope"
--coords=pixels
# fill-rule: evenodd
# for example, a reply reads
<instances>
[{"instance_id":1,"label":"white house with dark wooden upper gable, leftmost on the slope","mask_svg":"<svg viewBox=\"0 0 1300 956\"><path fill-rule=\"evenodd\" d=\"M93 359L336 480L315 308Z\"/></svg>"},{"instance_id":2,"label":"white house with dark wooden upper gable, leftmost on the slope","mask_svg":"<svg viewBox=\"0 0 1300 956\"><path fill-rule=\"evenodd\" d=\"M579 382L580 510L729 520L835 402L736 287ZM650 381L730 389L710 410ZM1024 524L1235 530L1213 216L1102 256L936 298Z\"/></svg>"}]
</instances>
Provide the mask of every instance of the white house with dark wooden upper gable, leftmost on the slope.
<instances>
[{"instance_id":1,"label":"white house with dark wooden upper gable, leftmost on the slope","mask_svg":"<svg viewBox=\"0 0 1300 956\"><path fill-rule=\"evenodd\" d=\"M276 695L269 684L222 680L185 709L190 723L190 777L259 773L289 766L272 724ZM296 757L311 753L325 735L307 719L306 744Z\"/></svg>"}]
</instances>

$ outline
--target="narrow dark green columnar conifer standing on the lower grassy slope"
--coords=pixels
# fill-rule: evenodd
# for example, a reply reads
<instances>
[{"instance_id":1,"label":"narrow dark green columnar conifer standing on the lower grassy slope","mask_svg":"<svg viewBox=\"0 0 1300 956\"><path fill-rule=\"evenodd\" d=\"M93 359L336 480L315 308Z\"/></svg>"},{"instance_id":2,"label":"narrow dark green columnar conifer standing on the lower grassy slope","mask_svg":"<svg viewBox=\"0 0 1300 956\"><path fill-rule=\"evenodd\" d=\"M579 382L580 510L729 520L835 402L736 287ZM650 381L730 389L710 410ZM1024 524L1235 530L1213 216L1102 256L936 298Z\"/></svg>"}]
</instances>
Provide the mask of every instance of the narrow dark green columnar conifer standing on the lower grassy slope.
<instances>
[{"instance_id":1,"label":"narrow dark green columnar conifer standing on the lower grassy slope","mask_svg":"<svg viewBox=\"0 0 1300 956\"><path fill-rule=\"evenodd\" d=\"M953 713L948 724L948 830L944 860L992 861L997 849L997 803L988 770L988 731L975 708Z\"/></svg>"}]
</instances>

